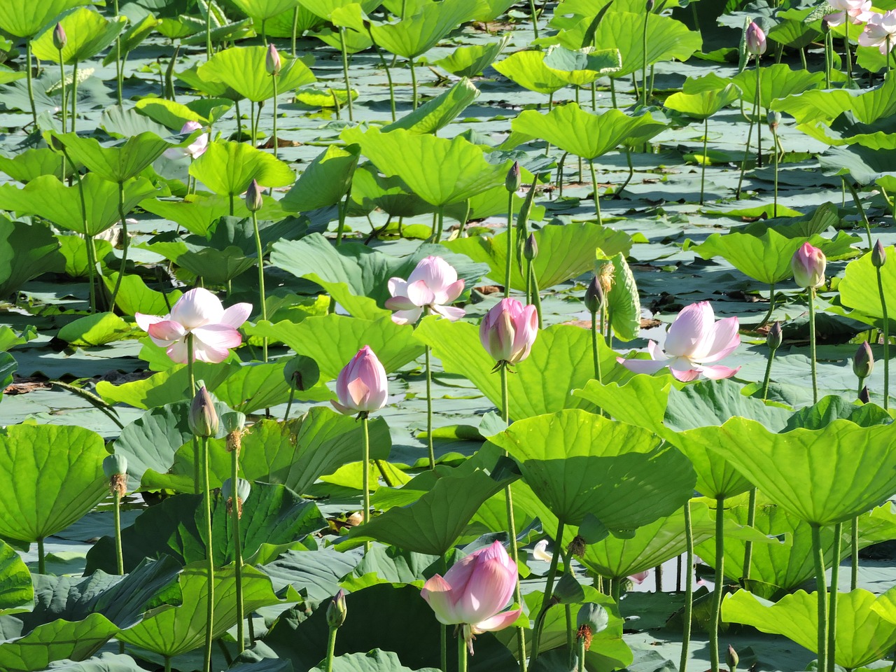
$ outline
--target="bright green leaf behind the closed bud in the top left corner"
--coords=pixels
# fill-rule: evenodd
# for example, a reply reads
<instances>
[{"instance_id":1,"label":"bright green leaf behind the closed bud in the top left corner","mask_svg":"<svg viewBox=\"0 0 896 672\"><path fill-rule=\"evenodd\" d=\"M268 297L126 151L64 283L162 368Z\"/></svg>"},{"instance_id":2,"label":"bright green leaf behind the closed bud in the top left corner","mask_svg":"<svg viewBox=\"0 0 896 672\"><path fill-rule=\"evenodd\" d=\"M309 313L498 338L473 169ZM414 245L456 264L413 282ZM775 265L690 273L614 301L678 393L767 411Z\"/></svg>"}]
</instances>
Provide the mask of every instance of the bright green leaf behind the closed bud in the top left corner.
<instances>
[{"instance_id":1,"label":"bright green leaf behind the closed bud in the top left corner","mask_svg":"<svg viewBox=\"0 0 896 672\"><path fill-rule=\"evenodd\" d=\"M54 4L58 3L55 0ZM81 4L81 3L79 3ZM70 3L69 6L72 6ZM52 21L53 17L49 17ZM112 44L119 33L125 29L124 16L104 19L96 10L79 7L65 13L59 19L68 39L62 48L62 62L65 65L82 63L99 54ZM59 49L53 45L53 30L56 24L47 25L41 33L31 41L31 51L41 60L59 63Z\"/></svg>"}]
</instances>

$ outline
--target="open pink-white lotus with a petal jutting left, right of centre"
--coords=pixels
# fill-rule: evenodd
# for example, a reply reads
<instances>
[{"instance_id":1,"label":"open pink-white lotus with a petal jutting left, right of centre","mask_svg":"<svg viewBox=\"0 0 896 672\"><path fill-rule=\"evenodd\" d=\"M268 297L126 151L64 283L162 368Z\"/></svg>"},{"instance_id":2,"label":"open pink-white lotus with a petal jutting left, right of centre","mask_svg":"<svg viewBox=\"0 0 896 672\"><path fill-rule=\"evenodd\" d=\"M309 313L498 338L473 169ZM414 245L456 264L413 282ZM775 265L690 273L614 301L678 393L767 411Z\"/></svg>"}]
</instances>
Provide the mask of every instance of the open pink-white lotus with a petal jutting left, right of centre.
<instances>
[{"instance_id":1,"label":"open pink-white lotus with a petal jutting left, right of centre","mask_svg":"<svg viewBox=\"0 0 896 672\"><path fill-rule=\"evenodd\" d=\"M618 362L638 374L655 374L668 366L672 375L685 382L700 375L713 380L729 378L737 374L740 366L706 365L718 362L740 345L737 317L726 317L719 322L715 319L709 301L685 306L669 327L665 350L660 350L656 341L651 340L647 346L650 359L619 358Z\"/></svg>"}]
</instances>

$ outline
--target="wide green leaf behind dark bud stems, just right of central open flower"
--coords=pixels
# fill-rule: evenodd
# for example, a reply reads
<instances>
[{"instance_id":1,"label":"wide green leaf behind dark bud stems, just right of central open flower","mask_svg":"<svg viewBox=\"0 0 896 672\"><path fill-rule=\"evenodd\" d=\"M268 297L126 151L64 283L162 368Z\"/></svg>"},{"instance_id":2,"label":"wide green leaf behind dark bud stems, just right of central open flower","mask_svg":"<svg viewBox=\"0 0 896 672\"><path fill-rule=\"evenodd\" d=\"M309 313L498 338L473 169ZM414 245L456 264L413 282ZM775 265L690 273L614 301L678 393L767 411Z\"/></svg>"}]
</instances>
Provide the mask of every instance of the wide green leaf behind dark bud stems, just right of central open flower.
<instances>
[{"instance_id":1,"label":"wide green leaf behind dark bud stems, just right of central open flower","mask_svg":"<svg viewBox=\"0 0 896 672\"><path fill-rule=\"evenodd\" d=\"M487 263L489 277L503 280L508 235L504 231L494 237L454 238L443 245L452 252L466 254L474 262ZM538 228L532 235L538 243L538 256L532 262L532 268L541 289L554 287L589 271L594 266L596 251L612 256L628 254L632 248L632 238L628 234L584 221ZM526 288L525 277L515 264L511 268L510 286L519 291Z\"/></svg>"}]
</instances>

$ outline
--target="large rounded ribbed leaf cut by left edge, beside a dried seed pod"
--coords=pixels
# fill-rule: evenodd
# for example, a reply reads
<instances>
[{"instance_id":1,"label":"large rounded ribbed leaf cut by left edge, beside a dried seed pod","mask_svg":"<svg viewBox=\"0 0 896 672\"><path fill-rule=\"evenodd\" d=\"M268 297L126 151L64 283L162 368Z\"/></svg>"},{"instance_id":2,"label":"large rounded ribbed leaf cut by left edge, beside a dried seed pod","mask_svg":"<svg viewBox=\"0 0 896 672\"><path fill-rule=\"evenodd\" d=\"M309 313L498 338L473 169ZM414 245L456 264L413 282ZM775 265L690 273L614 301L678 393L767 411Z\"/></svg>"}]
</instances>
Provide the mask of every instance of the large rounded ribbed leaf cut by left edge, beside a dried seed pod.
<instances>
[{"instance_id":1,"label":"large rounded ribbed leaf cut by left edge, beside a dried seed pod","mask_svg":"<svg viewBox=\"0 0 896 672\"><path fill-rule=\"evenodd\" d=\"M100 435L78 426L13 425L0 435L0 536L37 541L108 493Z\"/></svg>"}]
</instances>

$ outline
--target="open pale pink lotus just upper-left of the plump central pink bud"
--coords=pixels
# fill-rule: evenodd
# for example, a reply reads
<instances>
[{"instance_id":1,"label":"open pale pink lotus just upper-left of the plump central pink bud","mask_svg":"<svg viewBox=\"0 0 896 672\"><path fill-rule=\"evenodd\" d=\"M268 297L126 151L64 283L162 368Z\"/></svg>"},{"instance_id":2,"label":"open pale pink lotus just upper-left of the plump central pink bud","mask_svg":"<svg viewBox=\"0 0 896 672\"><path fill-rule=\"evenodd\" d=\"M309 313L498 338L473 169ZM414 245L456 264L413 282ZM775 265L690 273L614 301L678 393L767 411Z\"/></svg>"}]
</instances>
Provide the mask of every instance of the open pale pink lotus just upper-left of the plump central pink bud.
<instances>
[{"instance_id":1,"label":"open pale pink lotus just upper-left of the plump central pink bud","mask_svg":"<svg viewBox=\"0 0 896 672\"><path fill-rule=\"evenodd\" d=\"M396 311L392 322L396 324L415 323L423 308L443 315L449 320L458 320L464 315L463 308L450 306L463 291L463 280L457 279L457 271L440 256L421 259L417 268L410 271L408 280L389 279L386 307Z\"/></svg>"}]
</instances>

